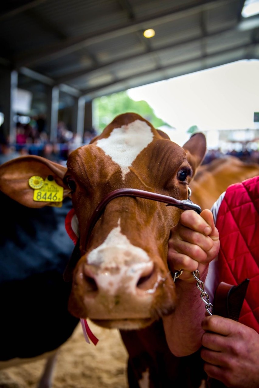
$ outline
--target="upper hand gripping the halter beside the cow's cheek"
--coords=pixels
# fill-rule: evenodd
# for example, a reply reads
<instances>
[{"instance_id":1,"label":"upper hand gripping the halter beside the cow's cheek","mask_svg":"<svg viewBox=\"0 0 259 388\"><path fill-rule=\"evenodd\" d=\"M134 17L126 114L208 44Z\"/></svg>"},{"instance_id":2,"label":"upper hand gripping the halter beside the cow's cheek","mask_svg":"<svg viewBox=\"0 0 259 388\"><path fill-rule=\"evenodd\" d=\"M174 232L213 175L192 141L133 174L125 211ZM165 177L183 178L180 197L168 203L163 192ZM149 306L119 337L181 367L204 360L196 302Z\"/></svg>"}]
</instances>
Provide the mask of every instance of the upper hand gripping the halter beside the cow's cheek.
<instances>
[{"instance_id":1,"label":"upper hand gripping the halter beside the cow's cheek","mask_svg":"<svg viewBox=\"0 0 259 388\"><path fill-rule=\"evenodd\" d=\"M212 212L203 210L183 211L177 225L172 227L169 239L168 263L172 272L183 269L179 279L195 281L192 272L200 275L219 251L219 233L214 225Z\"/></svg>"}]
</instances>

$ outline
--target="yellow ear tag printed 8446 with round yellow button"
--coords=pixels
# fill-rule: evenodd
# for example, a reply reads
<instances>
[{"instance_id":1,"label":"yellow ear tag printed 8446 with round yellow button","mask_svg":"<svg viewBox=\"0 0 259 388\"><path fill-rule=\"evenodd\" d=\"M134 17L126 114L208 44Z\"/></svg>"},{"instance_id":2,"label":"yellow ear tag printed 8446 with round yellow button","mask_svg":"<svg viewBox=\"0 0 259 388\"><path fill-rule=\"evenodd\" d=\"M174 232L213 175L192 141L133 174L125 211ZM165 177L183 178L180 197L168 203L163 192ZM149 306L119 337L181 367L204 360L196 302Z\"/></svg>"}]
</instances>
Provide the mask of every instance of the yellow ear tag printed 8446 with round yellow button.
<instances>
[{"instance_id":1,"label":"yellow ear tag printed 8446 with round yellow button","mask_svg":"<svg viewBox=\"0 0 259 388\"><path fill-rule=\"evenodd\" d=\"M36 177L31 177L29 179L29 185L30 180L35 179ZM40 178L40 177L37 177ZM43 182L43 184L40 187L35 187L34 193L33 193L33 201L37 202L51 202L50 206L62 206L63 201L63 187L59 186L55 181L52 175L49 175L45 180L43 178L40 178ZM41 182L41 181L40 181ZM33 182L35 185L35 180ZM38 186L38 184L36 184ZM34 187L32 187L34 189Z\"/></svg>"}]
</instances>

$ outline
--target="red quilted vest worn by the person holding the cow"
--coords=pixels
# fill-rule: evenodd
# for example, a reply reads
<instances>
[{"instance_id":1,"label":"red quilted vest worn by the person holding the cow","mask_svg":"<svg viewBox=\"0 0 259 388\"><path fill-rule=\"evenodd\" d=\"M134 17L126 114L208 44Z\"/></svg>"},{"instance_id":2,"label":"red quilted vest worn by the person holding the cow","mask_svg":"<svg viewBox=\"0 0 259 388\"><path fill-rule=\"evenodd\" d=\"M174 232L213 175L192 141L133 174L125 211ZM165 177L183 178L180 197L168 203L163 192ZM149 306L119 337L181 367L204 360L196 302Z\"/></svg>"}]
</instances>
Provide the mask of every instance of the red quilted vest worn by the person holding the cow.
<instances>
[{"instance_id":1,"label":"red quilted vest worn by the person holding the cow","mask_svg":"<svg viewBox=\"0 0 259 388\"><path fill-rule=\"evenodd\" d=\"M219 208L219 281L249 286L239 322L259 333L259 177L228 187Z\"/></svg>"}]
</instances>

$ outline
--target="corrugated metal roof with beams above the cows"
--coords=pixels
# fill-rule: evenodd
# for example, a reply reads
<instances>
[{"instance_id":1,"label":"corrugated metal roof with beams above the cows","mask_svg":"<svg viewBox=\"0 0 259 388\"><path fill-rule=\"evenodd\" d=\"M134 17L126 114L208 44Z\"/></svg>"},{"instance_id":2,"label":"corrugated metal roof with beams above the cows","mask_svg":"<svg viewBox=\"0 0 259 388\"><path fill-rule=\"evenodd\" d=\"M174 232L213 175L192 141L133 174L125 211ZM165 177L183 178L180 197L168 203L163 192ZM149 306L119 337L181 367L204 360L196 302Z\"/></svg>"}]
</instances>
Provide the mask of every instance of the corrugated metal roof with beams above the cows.
<instances>
[{"instance_id":1,"label":"corrugated metal roof with beams above the cows","mask_svg":"<svg viewBox=\"0 0 259 388\"><path fill-rule=\"evenodd\" d=\"M242 30L243 0L17 3L6 2L0 11L0 66L48 76L48 82L76 88L87 100L238 59L259 59L259 17ZM145 28L154 28L156 35L144 38Z\"/></svg>"}]
</instances>

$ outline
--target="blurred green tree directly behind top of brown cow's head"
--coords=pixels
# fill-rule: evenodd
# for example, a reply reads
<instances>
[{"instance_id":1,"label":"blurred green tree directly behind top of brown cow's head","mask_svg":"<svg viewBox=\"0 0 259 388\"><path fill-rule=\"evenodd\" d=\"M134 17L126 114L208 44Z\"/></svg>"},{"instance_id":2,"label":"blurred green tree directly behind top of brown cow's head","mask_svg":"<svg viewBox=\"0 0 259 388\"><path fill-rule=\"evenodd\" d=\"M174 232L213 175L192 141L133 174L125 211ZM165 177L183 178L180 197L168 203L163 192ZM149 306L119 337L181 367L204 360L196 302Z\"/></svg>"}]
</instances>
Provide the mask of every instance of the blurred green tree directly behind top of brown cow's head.
<instances>
[{"instance_id":1,"label":"blurred green tree directly behind top of brown cow's head","mask_svg":"<svg viewBox=\"0 0 259 388\"><path fill-rule=\"evenodd\" d=\"M155 128L168 125L156 117L153 109L146 101L134 101L127 92L113 93L93 100L93 115L96 118L94 126L97 133L101 133L118 114L134 112L148 120Z\"/></svg>"}]
</instances>

